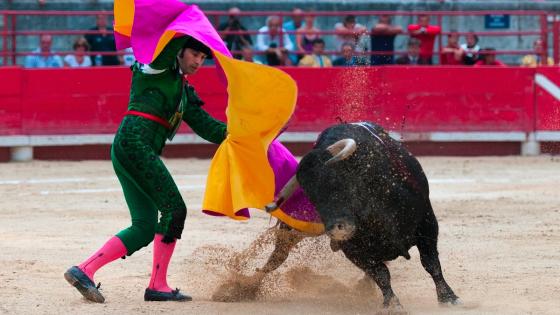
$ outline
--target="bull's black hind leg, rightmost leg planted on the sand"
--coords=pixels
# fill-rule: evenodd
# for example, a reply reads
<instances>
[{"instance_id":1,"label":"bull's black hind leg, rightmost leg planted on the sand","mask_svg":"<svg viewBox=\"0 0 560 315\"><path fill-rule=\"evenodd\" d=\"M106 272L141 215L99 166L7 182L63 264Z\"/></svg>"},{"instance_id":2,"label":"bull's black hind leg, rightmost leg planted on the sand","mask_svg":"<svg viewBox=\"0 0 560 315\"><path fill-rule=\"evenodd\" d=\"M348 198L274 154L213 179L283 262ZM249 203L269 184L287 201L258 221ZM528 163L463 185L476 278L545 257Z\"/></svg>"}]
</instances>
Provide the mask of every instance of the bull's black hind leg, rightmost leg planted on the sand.
<instances>
[{"instance_id":1,"label":"bull's black hind leg, rightmost leg planted on the sand","mask_svg":"<svg viewBox=\"0 0 560 315\"><path fill-rule=\"evenodd\" d=\"M431 209L430 209L431 210ZM438 223L433 211L420 226L417 247L424 269L432 276L440 303L459 304L460 300L443 278L437 250Z\"/></svg>"}]
</instances>

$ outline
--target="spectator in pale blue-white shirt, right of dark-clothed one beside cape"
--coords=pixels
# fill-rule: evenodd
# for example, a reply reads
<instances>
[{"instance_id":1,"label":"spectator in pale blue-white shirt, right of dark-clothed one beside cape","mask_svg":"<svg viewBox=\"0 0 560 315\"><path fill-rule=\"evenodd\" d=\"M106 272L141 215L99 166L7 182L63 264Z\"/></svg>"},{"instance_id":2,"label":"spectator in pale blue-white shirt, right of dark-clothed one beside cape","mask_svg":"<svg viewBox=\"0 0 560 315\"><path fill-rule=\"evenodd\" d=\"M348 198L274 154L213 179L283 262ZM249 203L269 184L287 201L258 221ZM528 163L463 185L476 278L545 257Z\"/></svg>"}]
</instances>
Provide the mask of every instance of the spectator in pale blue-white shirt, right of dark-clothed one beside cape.
<instances>
[{"instance_id":1,"label":"spectator in pale blue-white shirt, right of dark-clothed one beside cape","mask_svg":"<svg viewBox=\"0 0 560 315\"><path fill-rule=\"evenodd\" d=\"M270 66L292 64L288 58L288 51L293 50L294 45L285 30L280 27L279 16L269 16L266 19L266 26L259 29L256 49L265 52L265 62L263 63Z\"/></svg>"}]
</instances>

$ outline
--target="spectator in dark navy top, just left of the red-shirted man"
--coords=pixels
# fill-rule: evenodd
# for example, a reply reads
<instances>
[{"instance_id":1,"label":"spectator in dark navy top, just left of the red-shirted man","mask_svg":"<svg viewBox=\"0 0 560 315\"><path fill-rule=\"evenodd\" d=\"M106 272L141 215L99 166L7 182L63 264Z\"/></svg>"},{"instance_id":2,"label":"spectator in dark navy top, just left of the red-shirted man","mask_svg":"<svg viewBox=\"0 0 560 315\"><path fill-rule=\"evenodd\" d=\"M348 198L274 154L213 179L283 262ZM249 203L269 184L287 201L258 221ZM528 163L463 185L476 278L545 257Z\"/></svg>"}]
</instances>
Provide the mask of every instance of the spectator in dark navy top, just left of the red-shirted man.
<instances>
[{"instance_id":1,"label":"spectator in dark navy top, just left of the red-shirted man","mask_svg":"<svg viewBox=\"0 0 560 315\"><path fill-rule=\"evenodd\" d=\"M402 33L402 27L391 25L391 17L381 15L379 21L371 28L371 51L388 52L384 55L371 55L371 65L390 65L395 63L395 37Z\"/></svg>"}]
</instances>

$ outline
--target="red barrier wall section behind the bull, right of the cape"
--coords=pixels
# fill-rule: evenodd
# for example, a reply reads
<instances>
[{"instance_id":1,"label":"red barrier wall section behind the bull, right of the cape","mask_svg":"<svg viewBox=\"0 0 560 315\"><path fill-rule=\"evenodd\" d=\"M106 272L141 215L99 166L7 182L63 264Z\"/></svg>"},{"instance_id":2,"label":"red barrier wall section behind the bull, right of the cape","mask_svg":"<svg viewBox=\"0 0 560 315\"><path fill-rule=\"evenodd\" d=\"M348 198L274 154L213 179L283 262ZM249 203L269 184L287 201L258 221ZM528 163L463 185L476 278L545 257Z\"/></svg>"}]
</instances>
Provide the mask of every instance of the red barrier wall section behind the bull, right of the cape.
<instances>
[{"instance_id":1,"label":"red barrier wall section behind the bull, right of the cape","mask_svg":"<svg viewBox=\"0 0 560 315\"><path fill-rule=\"evenodd\" d=\"M380 67L290 69L300 95L290 130L371 120L394 131L528 131L534 70ZM503 84L508 82L507 84Z\"/></svg>"}]
</instances>

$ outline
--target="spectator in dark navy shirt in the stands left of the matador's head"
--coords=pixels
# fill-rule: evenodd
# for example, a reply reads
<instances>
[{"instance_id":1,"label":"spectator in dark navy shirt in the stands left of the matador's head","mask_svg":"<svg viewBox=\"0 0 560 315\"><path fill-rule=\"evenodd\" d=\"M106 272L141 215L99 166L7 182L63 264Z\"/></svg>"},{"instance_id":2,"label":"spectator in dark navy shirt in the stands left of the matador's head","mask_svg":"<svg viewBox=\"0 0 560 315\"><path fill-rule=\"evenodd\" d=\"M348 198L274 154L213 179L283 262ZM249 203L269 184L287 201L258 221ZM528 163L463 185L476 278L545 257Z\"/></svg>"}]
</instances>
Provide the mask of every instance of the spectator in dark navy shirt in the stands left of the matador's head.
<instances>
[{"instance_id":1,"label":"spectator in dark navy shirt in the stands left of the matador's head","mask_svg":"<svg viewBox=\"0 0 560 315\"><path fill-rule=\"evenodd\" d=\"M117 51L113 30L107 27L107 15L97 15L96 27L93 27L90 30L100 32L99 34L87 34L85 36L92 52ZM121 64L121 60L119 60L119 57L116 55L92 55L91 62L95 66L115 66Z\"/></svg>"}]
</instances>

